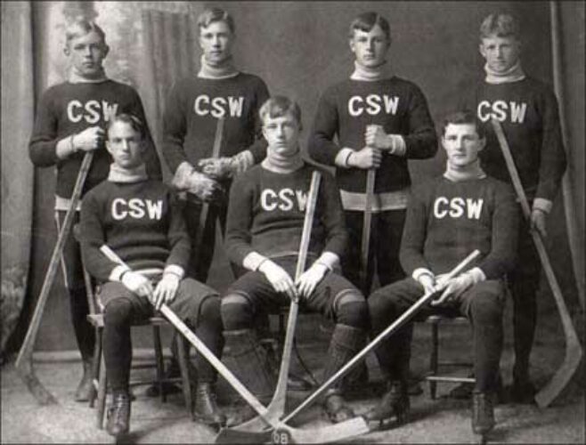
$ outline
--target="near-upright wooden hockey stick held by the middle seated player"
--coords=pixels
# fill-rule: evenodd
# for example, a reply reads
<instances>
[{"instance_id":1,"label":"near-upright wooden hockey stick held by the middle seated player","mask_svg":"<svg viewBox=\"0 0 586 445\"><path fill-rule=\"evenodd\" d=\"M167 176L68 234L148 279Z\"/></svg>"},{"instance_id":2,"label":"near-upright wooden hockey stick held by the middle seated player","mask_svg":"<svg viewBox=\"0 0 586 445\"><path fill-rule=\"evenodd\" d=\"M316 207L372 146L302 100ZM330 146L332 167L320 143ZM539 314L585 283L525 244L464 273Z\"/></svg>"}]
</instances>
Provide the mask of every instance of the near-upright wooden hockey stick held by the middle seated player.
<instances>
[{"instance_id":1,"label":"near-upright wooden hockey stick held by the middle seated player","mask_svg":"<svg viewBox=\"0 0 586 445\"><path fill-rule=\"evenodd\" d=\"M307 197L307 204L305 206L305 220L303 223L303 231L301 232L301 243L299 244L299 254L297 256L297 268L295 271L295 280L301 277L305 271L305 262L307 259L307 248L312 237L312 223L313 214L315 213L315 206L317 204L317 195L320 190L321 174L317 170L313 171L311 185L309 187L309 194ZM281 355L281 369L279 371L279 379L275 388L273 399L266 408L266 415L264 417L255 417L248 420L244 424L232 427L233 430L240 431L258 431L265 427L266 421L264 418L279 420L285 413L285 401L287 401L287 379L289 377L289 366L291 362L291 352L293 350L293 339L295 337L295 327L297 324L297 313L299 312L299 302L297 299L291 300L289 304L289 318L287 320L287 332L285 334L285 341L283 344L283 352ZM222 432L220 432L222 434Z\"/></svg>"}]
</instances>

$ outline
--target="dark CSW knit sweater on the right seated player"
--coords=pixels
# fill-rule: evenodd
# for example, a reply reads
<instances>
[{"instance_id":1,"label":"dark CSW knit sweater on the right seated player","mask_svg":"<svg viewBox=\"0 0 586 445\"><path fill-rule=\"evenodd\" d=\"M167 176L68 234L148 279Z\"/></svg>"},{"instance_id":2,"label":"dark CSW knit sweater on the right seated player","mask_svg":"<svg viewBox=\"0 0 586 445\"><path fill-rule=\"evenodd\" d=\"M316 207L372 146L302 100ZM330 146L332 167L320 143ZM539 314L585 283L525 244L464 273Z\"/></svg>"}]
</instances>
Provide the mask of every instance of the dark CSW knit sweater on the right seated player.
<instances>
[{"instance_id":1,"label":"dark CSW knit sweater on the right seated player","mask_svg":"<svg viewBox=\"0 0 586 445\"><path fill-rule=\"evenodd\" d=\"M518 218L512 188L491 177L424 182L412 190L407 207L403 270L444 273L479 249L476 265L487 279L501 278L516 260Z\"/></svg>"}]
</instances>

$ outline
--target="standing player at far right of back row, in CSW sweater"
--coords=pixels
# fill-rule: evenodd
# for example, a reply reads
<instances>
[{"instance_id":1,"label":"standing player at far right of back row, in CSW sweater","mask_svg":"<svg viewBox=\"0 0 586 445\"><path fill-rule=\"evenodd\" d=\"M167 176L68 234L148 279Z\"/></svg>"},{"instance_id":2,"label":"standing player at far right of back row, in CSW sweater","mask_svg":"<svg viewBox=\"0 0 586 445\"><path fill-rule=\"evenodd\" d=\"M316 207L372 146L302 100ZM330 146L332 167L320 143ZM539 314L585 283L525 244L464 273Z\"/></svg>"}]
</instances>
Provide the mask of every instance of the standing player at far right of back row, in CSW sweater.
<instances>
[{"instance_id":1,"label":"standing player at far right of back row, in CSW sweater","mask_svg":"<svg viewBox=\"0 0 586 445\"><path fill-rule=\"evenodd\" d=\"M486 149L480 156L484 171L511 182L490 120L494 117L501 122L525 194L533 206L531 221L522 220L519 225L519 261L509 274L515 336L511 395L514 401L531 402L535 389L529 376L529 358L535 335L541 268L529 224L541 236L546 235L546 216L566 169L566 152L556 96L549 85L525 75L520 50L517 21L509 14L488 15L480 27L485 78L468 94L464 106L476 109L478 119L486 127Z\"/></svg>"}]
</instances>

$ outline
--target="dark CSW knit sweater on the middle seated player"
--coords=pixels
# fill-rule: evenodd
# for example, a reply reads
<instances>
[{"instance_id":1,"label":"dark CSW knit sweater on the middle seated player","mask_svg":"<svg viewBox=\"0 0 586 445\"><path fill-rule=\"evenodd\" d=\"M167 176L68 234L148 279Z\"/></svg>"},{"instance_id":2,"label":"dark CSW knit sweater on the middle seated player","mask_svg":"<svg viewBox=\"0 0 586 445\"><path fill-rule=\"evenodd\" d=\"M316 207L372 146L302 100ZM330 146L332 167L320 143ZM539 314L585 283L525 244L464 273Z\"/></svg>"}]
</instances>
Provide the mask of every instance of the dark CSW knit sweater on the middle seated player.
<instances>
[{"instance_id":1,"label":"dark CSW knit sweater on the middle seated player","mask_svg":"<svg viewBox=\"0 0 586 445\"><path fill-rule=\"evenodd\" d=\"M233 262L242 264L251 252L272 258L297 255L313 170L304 164L293 173L277 174L257 165L236 178L225 240ZM313 258L323 251L341 256L346 227L339 191L331 174L321 174L308 252Z\"/></svg>"}]
</instances>

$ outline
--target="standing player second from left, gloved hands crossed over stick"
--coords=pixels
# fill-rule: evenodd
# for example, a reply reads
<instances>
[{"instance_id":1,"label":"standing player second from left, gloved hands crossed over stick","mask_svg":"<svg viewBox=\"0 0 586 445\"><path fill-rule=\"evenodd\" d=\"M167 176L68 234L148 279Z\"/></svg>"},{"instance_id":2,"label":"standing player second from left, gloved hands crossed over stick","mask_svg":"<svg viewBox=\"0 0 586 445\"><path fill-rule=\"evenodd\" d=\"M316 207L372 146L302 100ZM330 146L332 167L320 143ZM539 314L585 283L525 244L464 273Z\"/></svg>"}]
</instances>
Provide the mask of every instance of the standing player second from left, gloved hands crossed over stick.
<instances>
[{"instance_id":1,"label":"standing player second from left, gloved hands crossed over stick","mask_svg":"<svg viewBox=\"0 0 586 445\"><path fill-rule=\"evenodd\" d=\"M194 246L187 274L205 282L214 255L216 219L224 230L227 191L232 177L265 158L258 109L268 98L260 77L233 65L235 27L232 16L219 8L201 13L199 46L203 51L197 77L187 77L171 88L163 116L163 154L174 184L188 192L187 230L197 239L199 214L209 202L202 245ZM219 118L224 118L220 158L212 157ZM197 255L196 255L197 253Z\"/></svg>"}]
</instances>

